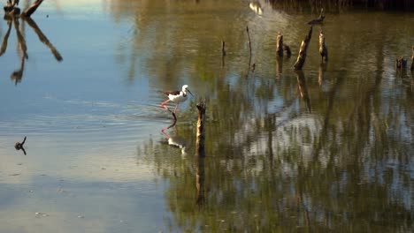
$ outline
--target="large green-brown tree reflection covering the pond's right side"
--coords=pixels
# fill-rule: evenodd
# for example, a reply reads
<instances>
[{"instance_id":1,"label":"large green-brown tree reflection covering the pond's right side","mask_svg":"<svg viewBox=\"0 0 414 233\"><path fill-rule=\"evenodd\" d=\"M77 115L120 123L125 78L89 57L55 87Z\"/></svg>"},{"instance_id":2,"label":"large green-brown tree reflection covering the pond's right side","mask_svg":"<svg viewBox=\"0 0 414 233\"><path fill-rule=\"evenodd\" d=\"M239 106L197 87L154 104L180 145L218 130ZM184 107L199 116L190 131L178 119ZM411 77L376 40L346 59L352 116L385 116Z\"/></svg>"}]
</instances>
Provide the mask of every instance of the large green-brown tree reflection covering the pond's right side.
<instances>
[{"instance_id":1,"label":"large green-brown tree reflection covering the pond's right side","mask_svg":"<svg viewBox=\"0 0 414 233\"><path fill-rule=\"evenodd\" d=\"M140 7L128 6L134 3L111 3L115 18L130 14L135 20L136 34L130 44L123 44L130 49L119 52L119 61L131 56L126 59L130 71L137 65L149 67L151 82L160 87L196 77L188 83L211 96L205 158L181 158L180 152L152 140L138 152L169 184L165 203L172 218L165 220L166 225L178 231L212 232L413 229L414 95L411 86L399 85L400 80L387 72L390 65L394 69L386 56L394 47L384 43L384 36L387 41L400 38L395 24L359 14L355 17L363 25L358 28L326 24L327 38L347 42L328 43L333 52L326 67L319 65L318 46L313 46L318 41L311 41L309 54L316 55L308 56L302 73L295 73L292 61L276 60L275 47L269 46L280 31L265 24L270 11L258 19L247 9L251 15L237 14L240 20L232 20L226 18L234 13L232 8L217 6L216 1L166 5L143 1ZM228 14L210 18L205 12L216 9L213 4ZM350 18L348 14L335 18L324 9L331 25L340 24L341 17L354 17L350 12ZM195 23L195 12L201 12L203 20ZM165 17L170 13L180 17ZM271 23L291 29L282 31L284 40L299 43L303 38L295 34L308 30L307 20L303 26L286 20L287 26L283 14L274 14ZM219 24L220 20L232 23ZM257 64L254 75L246 71L247 24L257 32L250 34L252 63ZM219 50L222 40L225 67ZM148 45L150 51L144 49ZM211 52L215 48L216 55ZM145 58L139 56L144 52ZM139 59L142 63L135 63ZM386 85L390 79L395 80L392 88ZM195 111L188 109L177 126L188 145L196 142L190 117ZM189 147L188 154L196 154L195 148Z\"/></svg>"}]
</instances>

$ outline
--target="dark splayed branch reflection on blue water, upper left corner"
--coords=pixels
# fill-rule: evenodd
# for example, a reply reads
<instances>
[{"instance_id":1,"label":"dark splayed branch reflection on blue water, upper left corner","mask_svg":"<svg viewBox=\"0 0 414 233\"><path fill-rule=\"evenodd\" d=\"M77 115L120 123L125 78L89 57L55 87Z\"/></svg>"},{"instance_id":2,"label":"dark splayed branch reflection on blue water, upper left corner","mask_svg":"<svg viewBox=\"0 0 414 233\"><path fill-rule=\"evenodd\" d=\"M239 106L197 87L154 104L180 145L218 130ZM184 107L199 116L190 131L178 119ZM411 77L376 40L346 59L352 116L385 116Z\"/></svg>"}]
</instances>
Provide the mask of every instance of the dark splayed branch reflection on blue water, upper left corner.
<instances>
[{"instance_id":1,"label":"dark splayed branch reflection on blue water, upper left corner","mask_svg":"<svg viewBox=\"0 0 414 233\"><path fill-rule=\"evenodd\" d=\"M24 34L26 34L26 27L24 26L26 23L33 29L35 34L37 34L39 40L42 41L42 43L44 43L50 49L51 53L53 54L53 56L55 56L56 60L58 62L61 62L63 60L63 57L58 52L58 49L56 49L53 46L53 44L49 41L47 36L42 33L41 28L37 26L34 19L7 14L4 15L4 21L7 22L8 28L6 34L4 34L2 45L0 47L0 56L3 56L7 50L7 44L12 31L12 26L16 32L18 55L20 56L20 66L17 70L12 71L12 74L10 76L10 79L14 81L15 85L17 85L19 82L21 82L21 79L23 79L23 72L25 71L25 61L29 58L27 54L27 41L24 36Z\"/></svg>"}]
</instances>

